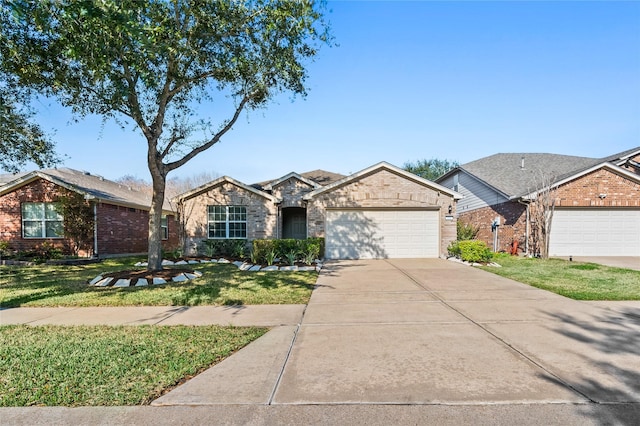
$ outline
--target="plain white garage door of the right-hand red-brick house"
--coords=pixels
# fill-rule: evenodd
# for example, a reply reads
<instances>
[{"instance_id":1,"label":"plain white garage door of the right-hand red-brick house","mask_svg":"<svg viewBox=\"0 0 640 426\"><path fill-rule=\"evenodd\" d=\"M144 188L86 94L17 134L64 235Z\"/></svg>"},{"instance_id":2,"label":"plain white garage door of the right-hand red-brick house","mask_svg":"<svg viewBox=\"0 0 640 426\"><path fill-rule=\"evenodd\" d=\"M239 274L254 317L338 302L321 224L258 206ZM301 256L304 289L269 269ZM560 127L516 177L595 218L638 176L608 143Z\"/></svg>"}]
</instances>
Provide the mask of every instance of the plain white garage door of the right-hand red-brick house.
<instances>
[{"instance_id":1,"label":"plain white garage door of the right-hand red-brick house","mask_svg":"<svg viewBox=\"0 0 640 426\"><path fill-rule=\"evenodd\" d=\"M640 256L640 210L556 210L551 256Z\"/></svg>"}]
</instances>

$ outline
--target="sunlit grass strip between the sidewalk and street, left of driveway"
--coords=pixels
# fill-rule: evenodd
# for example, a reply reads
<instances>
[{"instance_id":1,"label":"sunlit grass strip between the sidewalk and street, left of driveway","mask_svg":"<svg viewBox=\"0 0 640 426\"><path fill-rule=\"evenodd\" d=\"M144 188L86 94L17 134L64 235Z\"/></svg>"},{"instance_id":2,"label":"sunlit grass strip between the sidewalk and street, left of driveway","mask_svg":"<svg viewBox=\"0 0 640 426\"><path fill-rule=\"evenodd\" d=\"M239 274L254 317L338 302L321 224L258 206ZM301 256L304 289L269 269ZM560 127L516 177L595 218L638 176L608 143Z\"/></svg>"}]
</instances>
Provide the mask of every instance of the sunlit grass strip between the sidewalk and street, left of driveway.
<instances>
[{"instance_id":1,"label":"sunlit grass strip between the sidewalk and street, left of driveway","mask_svg":"<svg viewBox=\"0 0 640 426\"><path fill-rule=\"evenodd\" d=\"M0 327L0 406L148 404L266 332L255 327Z\"/></svg>"}]
</instances>

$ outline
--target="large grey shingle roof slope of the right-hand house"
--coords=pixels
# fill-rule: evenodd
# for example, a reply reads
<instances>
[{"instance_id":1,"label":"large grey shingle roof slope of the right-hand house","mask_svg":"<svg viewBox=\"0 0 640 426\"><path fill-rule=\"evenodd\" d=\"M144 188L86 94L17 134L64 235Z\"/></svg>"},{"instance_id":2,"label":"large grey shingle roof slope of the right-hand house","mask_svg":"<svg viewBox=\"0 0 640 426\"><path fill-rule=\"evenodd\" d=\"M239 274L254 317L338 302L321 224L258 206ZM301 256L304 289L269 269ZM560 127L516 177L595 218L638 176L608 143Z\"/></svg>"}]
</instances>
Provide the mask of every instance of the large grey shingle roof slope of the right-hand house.
<instances>
[{"instance_id":1,"label":"large grey shingle roof slope of the right-hand house","mask_svg":"<svg viewBox=\"0 0 640 426\"><path fill-rule=\"evenodd\" d=\"M555 182L601 162L603 160L597 158L571 155L502 153L459 168L509 197L518 197L531 192L543 181Z\"/></svg>"}]
</instances>

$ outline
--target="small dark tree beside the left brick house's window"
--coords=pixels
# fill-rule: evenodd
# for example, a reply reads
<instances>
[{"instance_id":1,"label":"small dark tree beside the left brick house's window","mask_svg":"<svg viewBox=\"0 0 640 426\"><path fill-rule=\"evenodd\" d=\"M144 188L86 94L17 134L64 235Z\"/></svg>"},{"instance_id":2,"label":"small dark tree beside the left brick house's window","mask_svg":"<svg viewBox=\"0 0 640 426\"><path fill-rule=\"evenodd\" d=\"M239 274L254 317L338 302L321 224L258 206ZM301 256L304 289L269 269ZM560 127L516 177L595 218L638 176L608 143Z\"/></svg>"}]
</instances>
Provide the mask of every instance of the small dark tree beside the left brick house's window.
<instances>
[{"instance_id":1,"label":"small dark tree beside the left brick house's window","mask_svg":"<svg viewBox=\"0 0 640 426\"><path fill-rule=\"evenodd\" d=\"M94 216L91 204L82 194L66 191L58 198L56 210L63 216L63 235L71 242L71 253L92 252Z\"/></svg>"}]
</instances>

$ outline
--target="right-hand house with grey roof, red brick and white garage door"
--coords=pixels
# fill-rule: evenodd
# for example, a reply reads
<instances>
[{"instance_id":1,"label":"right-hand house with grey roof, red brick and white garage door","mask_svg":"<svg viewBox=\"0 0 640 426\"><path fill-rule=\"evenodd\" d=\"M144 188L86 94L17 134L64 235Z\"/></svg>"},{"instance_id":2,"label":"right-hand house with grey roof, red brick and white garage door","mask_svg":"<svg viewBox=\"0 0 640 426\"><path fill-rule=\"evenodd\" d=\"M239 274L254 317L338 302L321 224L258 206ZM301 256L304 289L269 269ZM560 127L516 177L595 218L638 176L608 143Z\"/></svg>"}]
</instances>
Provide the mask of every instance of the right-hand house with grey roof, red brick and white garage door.
<instances>
[{"instance_id":1,"label":"right-hand house with grey roof, red brick and white garage door","mask_svg":"<svg viewBox=\"0 0 640 426\"><path fill-rule=\"evenodd\" d=\"M548 188L555 199L549 255L640 256L640 147L599 159L495 154L436 182L464 196L458 218L479 227L491 247L497 239L496 251L509 251L514 240L530 251L529 204Z\"/></svg>"}]
</instances>

